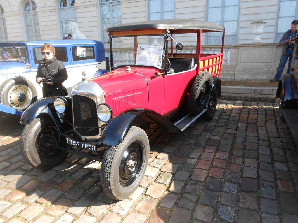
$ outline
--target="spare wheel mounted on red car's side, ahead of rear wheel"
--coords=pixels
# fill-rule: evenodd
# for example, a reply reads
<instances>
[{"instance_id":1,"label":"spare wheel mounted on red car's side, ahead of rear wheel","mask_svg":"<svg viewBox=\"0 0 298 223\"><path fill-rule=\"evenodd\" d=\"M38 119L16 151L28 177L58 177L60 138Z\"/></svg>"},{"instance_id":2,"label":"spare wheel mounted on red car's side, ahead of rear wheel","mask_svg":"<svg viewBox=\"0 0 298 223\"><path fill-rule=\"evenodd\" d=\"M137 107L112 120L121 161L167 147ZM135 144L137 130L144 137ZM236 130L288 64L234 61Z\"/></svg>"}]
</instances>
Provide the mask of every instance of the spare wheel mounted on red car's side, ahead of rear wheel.
<instances>
[{"instance_id":1,"label":"spare wheel mounted on red car's side, ahead of rear wheel","mask_svg":"<svg viewBox=\"0 0 298 223\"><path fill-rule=\"evenodd\" d=\"M203 71L195 78L190 89L187 109L192 115L198 115L206 108L212 86L212 75L208 71Z\"/></svg>"}]
</instances>

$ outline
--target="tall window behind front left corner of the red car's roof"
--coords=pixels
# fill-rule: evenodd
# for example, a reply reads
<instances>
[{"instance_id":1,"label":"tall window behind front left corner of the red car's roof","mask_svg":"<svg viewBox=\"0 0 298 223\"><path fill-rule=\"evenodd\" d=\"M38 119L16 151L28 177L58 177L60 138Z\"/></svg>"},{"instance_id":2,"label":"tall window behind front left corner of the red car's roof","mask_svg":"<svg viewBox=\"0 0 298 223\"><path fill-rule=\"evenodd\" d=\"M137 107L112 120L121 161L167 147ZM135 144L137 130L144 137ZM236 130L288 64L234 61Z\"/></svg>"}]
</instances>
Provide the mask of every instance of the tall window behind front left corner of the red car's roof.
<instances>
[{"instance_id":1,"label":"tall window behind front left corner of the red car's roof","mask_svg":"<svg viewBox=\"0 0 298 223\"><path fill-rule=\"evenodd\" d=\"M100 2L101 15L101 32L102 40L105 48L108 48L108 33L106 28L111 26L121 25L121 4L119 0L101 0Z\"/></svg>"}]
</instances>

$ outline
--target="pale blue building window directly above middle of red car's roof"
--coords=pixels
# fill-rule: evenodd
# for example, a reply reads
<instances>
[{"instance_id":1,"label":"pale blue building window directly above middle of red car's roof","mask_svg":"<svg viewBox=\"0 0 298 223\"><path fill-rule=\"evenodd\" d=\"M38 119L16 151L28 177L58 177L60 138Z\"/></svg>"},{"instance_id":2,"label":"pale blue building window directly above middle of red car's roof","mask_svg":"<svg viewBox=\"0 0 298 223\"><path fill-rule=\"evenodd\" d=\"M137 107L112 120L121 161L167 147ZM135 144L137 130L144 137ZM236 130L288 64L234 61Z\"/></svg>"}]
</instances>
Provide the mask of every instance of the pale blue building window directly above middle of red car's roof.
<instances>
[{"instance_id":1,"label":"pale blue building window directly above middle of red car's roof","mask_svg":"<svg viewBox=\"0 0 298 223\"><path fill-rule=\"evenodd\" d=\"M175 18L175 0L149 0L149 20Z\"/></svg>"}]
</instances>

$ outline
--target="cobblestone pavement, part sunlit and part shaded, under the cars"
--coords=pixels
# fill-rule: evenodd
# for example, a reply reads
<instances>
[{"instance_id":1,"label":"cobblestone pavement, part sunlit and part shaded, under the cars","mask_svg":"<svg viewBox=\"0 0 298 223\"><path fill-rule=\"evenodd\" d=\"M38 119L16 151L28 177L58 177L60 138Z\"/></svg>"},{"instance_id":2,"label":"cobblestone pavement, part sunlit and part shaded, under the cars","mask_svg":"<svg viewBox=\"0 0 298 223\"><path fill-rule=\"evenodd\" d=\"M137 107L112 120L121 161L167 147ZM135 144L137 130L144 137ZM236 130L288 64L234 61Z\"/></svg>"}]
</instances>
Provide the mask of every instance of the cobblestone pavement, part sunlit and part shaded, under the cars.
<instances>
[{"instance_id":1,"label":"cobblestone pavement, part sunlit and part shaded, under the cars","mask_svg":"<svg viewBox=\"0 0 298 223\"><path fill-rule=\"evenodd\" d=\"M298 222L298 153L278 105L218 102L182 134L149 129L149 164L126 200L108 198L100 162L24 163L23 126L0 120L0 222Z\"/></svg>"}]
</instances>

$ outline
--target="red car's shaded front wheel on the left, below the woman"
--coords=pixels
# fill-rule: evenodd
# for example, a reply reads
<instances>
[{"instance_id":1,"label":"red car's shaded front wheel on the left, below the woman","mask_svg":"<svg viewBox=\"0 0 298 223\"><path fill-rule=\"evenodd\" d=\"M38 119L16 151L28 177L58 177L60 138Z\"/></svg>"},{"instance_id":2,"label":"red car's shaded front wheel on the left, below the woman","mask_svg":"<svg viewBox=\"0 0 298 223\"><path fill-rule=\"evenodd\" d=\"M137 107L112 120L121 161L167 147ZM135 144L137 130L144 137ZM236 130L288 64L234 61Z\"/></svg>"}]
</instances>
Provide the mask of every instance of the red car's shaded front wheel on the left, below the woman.
<instances>
[{"instance_id":1,"label":"red car's shaded front wheel on the left, below the woman","mask_svg":"<svg viewBox=\"0 0 298 223\"><path fill-rule=\"evenodd\" d=\"M37 169L48 170L63 162L68 152L57 148L60 133L49 119L35 118L21 134L21 154Z\"/></svg>"}]
</instances>

